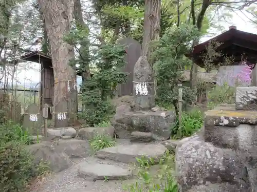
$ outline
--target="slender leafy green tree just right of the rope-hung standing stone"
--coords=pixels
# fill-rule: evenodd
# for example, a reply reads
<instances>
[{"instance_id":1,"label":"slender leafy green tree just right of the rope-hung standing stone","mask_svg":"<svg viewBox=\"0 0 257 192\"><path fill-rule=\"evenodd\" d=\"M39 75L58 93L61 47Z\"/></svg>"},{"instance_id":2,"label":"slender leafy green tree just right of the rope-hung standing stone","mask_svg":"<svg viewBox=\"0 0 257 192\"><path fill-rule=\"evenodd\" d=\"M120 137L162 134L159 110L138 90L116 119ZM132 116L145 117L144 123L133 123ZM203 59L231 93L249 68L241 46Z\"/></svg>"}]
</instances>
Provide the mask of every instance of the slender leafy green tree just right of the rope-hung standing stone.
<instances>
[{"instance_id":1,"label":"slender leafy green tree just right of the rope-hung standing stone","mask_svg":"<svg viewBox=\"0 0 257 192\"><path fill-rule=\"evenodd\" d=\"M176 114L178 102L178 80L181 69L187 65L184 55L191 49L192 40L198 38L199 32L193 26L169 28L160 40L154 42L155 51L152 59L157 78L157 100L164 105L174 105ZM184 103L190 103L194 95L189 87L182 87Z\"/></svg>"}]
</instances>

